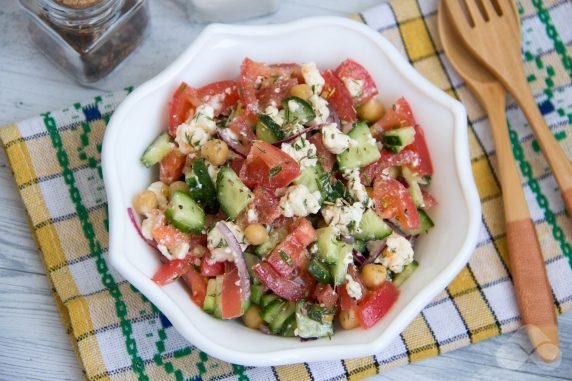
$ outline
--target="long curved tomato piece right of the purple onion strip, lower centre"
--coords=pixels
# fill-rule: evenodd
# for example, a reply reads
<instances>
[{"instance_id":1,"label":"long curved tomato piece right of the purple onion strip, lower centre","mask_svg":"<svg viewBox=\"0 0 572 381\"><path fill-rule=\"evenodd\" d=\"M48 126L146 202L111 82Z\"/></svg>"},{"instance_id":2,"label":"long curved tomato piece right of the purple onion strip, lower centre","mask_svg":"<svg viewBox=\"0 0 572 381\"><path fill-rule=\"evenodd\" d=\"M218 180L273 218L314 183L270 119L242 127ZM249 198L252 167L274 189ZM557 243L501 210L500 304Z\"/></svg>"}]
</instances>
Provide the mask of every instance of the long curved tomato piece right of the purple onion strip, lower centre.
<instances>
[{"instance_id":1,"label":"long curved tomato piece right of the purple onion strip, lower centre","mask_svg":"<svg viewBox=\"0 0 572 381\"><path fill-rule=\"evenodd\" d=\"M311 287L305 282L305 278L285 278L266 261L254 265L252 270L262 284L286 300L296 301L304 299L310 294Z\"/></svg>"}]
</instances>

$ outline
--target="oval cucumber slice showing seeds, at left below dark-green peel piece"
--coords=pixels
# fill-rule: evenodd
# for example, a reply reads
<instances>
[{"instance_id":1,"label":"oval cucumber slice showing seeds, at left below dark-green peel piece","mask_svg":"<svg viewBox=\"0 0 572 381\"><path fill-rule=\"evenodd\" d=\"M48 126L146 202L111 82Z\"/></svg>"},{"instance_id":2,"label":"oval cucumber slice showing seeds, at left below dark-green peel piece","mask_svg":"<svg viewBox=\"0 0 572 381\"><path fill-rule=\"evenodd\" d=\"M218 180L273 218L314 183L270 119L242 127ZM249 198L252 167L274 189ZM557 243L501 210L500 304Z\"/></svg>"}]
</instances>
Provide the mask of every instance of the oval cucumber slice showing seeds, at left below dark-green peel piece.
<instances>
[{"instance_id":1,"label":"oval cucumber slice showing seeds, at left below dark-green peel piece","mask_svg":"<svg viewBox=\"0 0 572 381\"><path fill-rule=\"evenodd\" d=\"M205 226L205 212L185 192L177 191L165 210L167 221L182 232L200 233Z\"/></svg>"}]
</instances>

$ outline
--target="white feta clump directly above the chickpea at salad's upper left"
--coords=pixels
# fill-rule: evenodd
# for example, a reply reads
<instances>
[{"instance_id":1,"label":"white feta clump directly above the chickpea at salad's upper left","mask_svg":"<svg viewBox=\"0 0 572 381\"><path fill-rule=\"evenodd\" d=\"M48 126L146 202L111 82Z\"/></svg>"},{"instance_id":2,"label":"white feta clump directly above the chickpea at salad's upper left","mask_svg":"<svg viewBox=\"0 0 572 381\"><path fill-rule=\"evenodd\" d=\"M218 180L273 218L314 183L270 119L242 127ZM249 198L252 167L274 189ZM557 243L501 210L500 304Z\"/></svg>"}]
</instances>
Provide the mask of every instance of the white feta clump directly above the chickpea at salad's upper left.
<instances>
[{"instance_id":1,"label":"white feta clump directly above the chickpea at salad's upper left","mask_svg":"<svg viewBox=\"0 0 572 381\"><path fill-rule=\"evenodd\" d=\"M175 141L185 155L200 149L217 130L214 109L208 104L197 107L195 116L177 127Z\"/></svg>"}]
</instances>

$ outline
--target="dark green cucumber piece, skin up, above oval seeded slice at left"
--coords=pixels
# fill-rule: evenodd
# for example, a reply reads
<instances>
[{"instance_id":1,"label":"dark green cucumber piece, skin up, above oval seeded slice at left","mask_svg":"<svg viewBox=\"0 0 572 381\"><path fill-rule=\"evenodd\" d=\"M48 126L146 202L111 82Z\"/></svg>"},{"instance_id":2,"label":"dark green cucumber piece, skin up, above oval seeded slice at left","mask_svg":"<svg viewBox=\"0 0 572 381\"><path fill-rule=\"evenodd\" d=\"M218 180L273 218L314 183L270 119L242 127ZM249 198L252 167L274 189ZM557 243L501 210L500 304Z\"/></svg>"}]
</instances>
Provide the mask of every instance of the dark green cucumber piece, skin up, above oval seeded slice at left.
<instances>
[{"instance_id":1,"label":"dark green cucumber piece, skin up, above oval seeded slice at left","mask_svg":"<svg viewBox=\"0 0 572 381\"><path fill-rule=\"evenodd\" d=\"M186 178L189 193L205 210L214 214L218 211L216 188L209 176L207 165L203 159L195 159L192 162L192 170Z\"/></svg>"}]
</instances>

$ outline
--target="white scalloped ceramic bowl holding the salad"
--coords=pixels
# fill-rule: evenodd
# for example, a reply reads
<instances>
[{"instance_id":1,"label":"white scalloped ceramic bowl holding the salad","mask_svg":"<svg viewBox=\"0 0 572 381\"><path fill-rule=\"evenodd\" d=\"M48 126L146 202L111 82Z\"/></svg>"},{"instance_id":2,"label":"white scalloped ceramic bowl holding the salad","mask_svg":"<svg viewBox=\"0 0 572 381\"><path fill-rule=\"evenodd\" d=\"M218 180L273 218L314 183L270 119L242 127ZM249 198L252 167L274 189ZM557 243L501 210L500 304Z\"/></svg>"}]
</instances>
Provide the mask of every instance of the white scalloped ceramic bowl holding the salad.
<instances>
[{"instance_id":1,"label":"white scalloped ceramic bowl holding the salad","mask_svg":"<svg viewBox=\"0 0 572 381\"><path fill-rule=\"evenodd\" d=\"M351 57L369 70L386 105L405 96L425 129L435 167L431 192L440 202L430 212L435 228L417 241L420 266L401 287L397 303L367 331L338 330L331 340L309 342L269 336L240 322L212 318L191 302L179 282L161 288L151 281L159 260L137 235L126 212L133 196L158 178L156 171L140 164L139 157L166 128L167 102L181 81L200 86L237 78L244 57L270 63L315 61L322 69ZM137 88L115 111L102 160L112 265L190 342L212 356L243 365L333 360L381 351L467 263L480 224L463 106L417 73L379 33L344 18L208 26L173 64Z\"/></svg>"}]
</instances>

